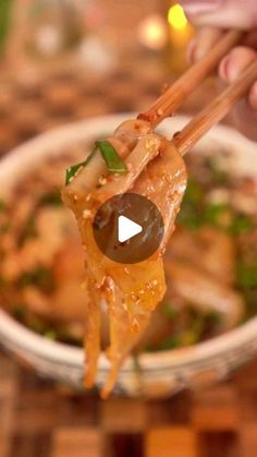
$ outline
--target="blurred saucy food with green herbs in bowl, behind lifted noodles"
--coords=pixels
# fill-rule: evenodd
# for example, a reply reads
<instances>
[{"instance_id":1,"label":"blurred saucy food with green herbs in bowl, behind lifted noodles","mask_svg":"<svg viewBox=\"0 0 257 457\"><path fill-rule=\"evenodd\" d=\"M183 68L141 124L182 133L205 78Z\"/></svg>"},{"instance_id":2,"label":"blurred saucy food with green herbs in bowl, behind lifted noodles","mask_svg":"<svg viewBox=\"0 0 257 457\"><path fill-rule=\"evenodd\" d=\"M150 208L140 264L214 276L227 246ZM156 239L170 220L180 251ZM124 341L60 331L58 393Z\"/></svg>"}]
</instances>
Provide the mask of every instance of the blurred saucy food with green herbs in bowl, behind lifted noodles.
<instances>
[{"instance_id":1,"label":"blurred saucy food with green herbs in bowl, behind lifted noodles","mask_svg":"<svg viewBox=\"0 0 257 457\"><path fill-rule=\"evenodd\" d=\"M40 160L35 169L29 166L28 173L26 176L23 173L21 181L17 180L10 199L4 197L1 204L2 306L35 332L50 339L79 346L82 346L86 320L86 291L79 287L84 278L81 241L70 212L63 205L59 206L59 195L63 183L63 169L76 160L83 160L85 151L90 151L90 148L91 144L83 142L76 147L69 147L66 151L63 148L58 157ZM213 145L213 151L209 153L208 156L203 154L198 156L193 153L186 158L189 175L188 187L176 224L178 229L172 238L172 240L175 240L176 236L178 240L182 240L182 237L184 240L189 238L194 241L194 252L189 258L184 257L181 252L172 252L179 243L173 241L168 246L167 258L169 260L171 250L171 255L176 255L178 262L194 266L198 263L198 269L204 272L206 266L204 265L203 251L208 245L208 240L211 237L215 239L217 236L225 234L227 241L229 238L234 249L234 264L231 272L234 270L235 274L234 279L230 279L230 286L225 287L236 291L241 302L243 299L243 314L241 317L238 314L237 321L240 324L256 314L256 181L246 175L231 175L230 160L225 155L227 152L222 154L220 145ZM38 204L38 202L41 203ZM25 209L28 207L29 209ZM42 212L49 209L52 215L50 218L48 215L48 226L52 227L52 233L59 233L61 242L59 248L54 248L56 251L52 250L51 255L46 254L47 258L44 260L40 252L47 251L46 240L50 240L50 238L49 236L44 238L41 229L30 230L29 227L33 227L35 223L37 227L37 220L44 218ZM65 224L58 225L56 221L54 229L54 220L57 220L54 213L60 214L59 212L62 212ZM16 218L17 221L15 221ZM26 227L26 221L28 229L26 237L22 237L24 244L19 246L21 243L21 241L19 242L20 232ZM211 234L208 233L208 230ZM37 249L29 248L38 237L40 241ZM26 245L28 245L27 252L24 248ZM74 251L69 255L72 251L71 245ZM183 242L180 244L181 246L183 246ZM23 256L25 252L27 260ZM35 257L35 252L38 252L38 258ZM217 257L212 256L211 258L215 265L220 264L220 272L222 272L228 255L224 255L227 251L220 250L220 252L223 252L221 264L221 254L218 255L217 250L212 250L212 254L217 253ZM11 265L8 268L11 270L17 264L16 276L10 276L10 272L3 270L4 262L9 262L8 258L10 258ZM64 263L63 258L68 262ZM164 260L164 264L166 262ZM63 265L61 272L58 269L58 265ZM227 267L228 270L229 267ZM208 275L212 275L215 278L215 272L217 269L208 272ZM169 275L168 270L167 273ZM216 277L218 276L216 273ZM232 323L224 320L225 316L220 313L219 309L213 309L209 313L207 309L195 305L194 300L180 298L180 293L171 289L172 284L170 285L169 277L167 279L167 296L155 311L145 336L134 351L135 354L146 350L162 351L187 347L236 325L236 320ZM71 285L70 292L66 293L66 284L70 282L74 286ZM35 290L39 292L39 298L44 299L39 302L44 303L42 308L38 305L37 300L29 300L30 292L28 290L27 293L26 290L29 287L34 292ZM58 296L62 296L61 301L58 301ZM66 300L63 300L64 298ZM196 296L194 298L196 299ZM107 326L107 322L105 325ZM102 344L108 344L106 328L102 328Z\"/></svg>"}]
</instances>

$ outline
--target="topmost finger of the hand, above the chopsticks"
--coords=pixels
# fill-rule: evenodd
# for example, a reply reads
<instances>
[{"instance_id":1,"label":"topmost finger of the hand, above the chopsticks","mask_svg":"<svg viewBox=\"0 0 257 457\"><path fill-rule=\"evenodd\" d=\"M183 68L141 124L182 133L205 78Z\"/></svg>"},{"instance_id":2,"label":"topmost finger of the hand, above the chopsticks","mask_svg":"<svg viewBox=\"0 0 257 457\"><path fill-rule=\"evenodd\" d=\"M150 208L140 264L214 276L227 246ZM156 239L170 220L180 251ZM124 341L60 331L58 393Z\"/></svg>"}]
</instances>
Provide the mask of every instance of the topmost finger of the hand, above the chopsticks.
<instances>
[{"instance_id":1,"label":"topmost finger of the hand, above the chopsticks","mask_svg":"<svg viewBox=\"0 0 257 457\"><path fill-rule=\"evenodd\" d=\"M257 25L256 0L181 0L194 25L220 28L254 28Z\"/></svg>"}]
</instances>

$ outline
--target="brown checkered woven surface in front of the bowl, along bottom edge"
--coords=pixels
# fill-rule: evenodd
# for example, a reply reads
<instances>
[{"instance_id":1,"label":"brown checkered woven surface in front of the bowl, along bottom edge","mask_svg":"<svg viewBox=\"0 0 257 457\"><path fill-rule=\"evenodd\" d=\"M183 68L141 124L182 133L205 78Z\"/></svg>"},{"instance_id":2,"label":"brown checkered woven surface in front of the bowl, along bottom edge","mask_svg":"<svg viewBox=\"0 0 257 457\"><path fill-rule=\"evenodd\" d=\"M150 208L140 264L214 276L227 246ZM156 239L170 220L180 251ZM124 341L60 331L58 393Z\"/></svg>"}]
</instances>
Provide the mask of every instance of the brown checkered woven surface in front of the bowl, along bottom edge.
<instances>
[{"instance_id":1,"label":"brown checkered woven surface in front of the bowl, along bottom edge","mask_svg":"<svg viewBox=\"0 0 257 457\"><path fill-rule=\"evenodd\" d=\"M0 457L252 457L257 362L163 400L78 396L0 354Z\"/></svg>"}]
</instances>

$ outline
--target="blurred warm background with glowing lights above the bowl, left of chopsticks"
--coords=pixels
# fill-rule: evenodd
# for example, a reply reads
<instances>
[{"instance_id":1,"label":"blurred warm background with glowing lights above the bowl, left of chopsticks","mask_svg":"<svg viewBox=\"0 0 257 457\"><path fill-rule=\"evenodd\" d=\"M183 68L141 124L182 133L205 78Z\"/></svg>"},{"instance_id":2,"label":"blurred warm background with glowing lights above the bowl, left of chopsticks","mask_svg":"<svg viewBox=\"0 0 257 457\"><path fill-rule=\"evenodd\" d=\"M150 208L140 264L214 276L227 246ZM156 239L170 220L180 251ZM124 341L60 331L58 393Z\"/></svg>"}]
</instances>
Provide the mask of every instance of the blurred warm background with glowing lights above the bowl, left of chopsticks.
<instances>
[{"instance_id":1,"label":"blurred warm background with glowing lights above the bowl, left of chopsticks","mask_svg":"<svg viewBox=\"0 0 257 457\"><path fill-rule=\"evenodd\" d=\"M1 0L0 153L63 122L143 110L185 70L193 34L170 0Z\"/></svg>"}]
</instances>

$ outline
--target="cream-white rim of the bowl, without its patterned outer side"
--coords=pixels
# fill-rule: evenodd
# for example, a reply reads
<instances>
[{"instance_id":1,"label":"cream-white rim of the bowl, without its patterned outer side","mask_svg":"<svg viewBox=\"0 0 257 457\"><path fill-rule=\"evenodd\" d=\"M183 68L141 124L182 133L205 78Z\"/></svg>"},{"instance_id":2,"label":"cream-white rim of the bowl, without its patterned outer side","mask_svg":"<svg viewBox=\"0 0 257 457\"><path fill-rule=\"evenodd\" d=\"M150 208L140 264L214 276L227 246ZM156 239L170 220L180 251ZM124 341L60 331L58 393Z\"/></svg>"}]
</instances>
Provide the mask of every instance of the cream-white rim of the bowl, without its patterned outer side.
<instances>
[{"instance_id":1,"label":"cream-white rim of the bowl, without its patterned outer side","mask_svg":"<svg viewBox=\"0 0 257 457\"><path fill-rule=\"evenodd\" d=\"M74 144L74 141L96 137L101 132L102 125L107 129L113 129L117 124L125 119L133 117L133 113L109 115L93 119L76 121L56 128L51 131L45 132L33 140L15 147L0 161L0 179L1 182L8 182L5 191L15 182L16 176L25 175L27 166L35 163L37 158L42 156L58 155L62 146L65 148L69 144ZM164 133L175 132L188 121L187 116L178 116L172 120L167 119L161 128ZM86 133L86 131L90 133ZM218 139L218 140L217 140ZM197 144L197 148L201 145L204 149L209 142L223 142L225 145L233 148L247 149L248 170L252 170L253 159L256 159L256 144L234 131L227 125L216 125L209 133ZM21 163L21 157L23 161ZM257 167L256 171L257 173ZM0 339L3 345L9 347L19 346L20 348L40 356L44 359L52 360L58 364L66 364L74 368L81 368L84 359L84 351L82 348L75 348L68 344L52 341L39 334L30 330L24 325L15 321L5 311L0 309ZM199 342L192 347L179 348L166 351L158 351L151 353L142 353L139 356L140 366L146 370L170 369L175 366L188 365L191 363L200 363L201 360L212 357L219 357L228 349L232 351L238 350L244 345L250 345L252 341L257 340L257 316L250 318L223 335L211 338L207 341ZM100 356L99 370L106 371L109 362L103 354ZM121 372L132 370L134 363L132 357L125 361Z\"/></svg>"}]
</instances>

